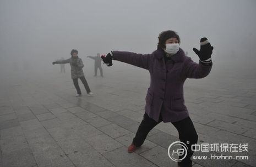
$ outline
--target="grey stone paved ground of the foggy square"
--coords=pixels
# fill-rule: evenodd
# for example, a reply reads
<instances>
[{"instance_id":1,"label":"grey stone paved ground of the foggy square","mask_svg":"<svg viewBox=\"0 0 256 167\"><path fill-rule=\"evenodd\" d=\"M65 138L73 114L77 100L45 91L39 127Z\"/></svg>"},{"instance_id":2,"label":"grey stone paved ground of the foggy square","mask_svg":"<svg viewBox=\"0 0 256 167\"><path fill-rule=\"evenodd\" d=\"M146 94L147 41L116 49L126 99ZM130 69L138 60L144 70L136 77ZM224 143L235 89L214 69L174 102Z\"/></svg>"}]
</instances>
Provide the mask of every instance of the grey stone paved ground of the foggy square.
<instances>
[{"instance_id":1,"label":"grey stone paved ground of the foggy square","mask_svg":"<svg viewBox=\"0 0 256 167\"><path fill-rule=\"evenodd\" d=\"M120 68L122 66L122 68ZM144 145L127 153L144 113L149 75L116 64L105 77L85 67L94 97L74 97L70 73L1 72L1 167L8 166L176 166L167 148L178 141L171 123L153 129ZM121 69L121 70L120 70ZM248 143L248 152L194 155L249 156L249 160L196 160L201 166L256 166L256 75L213 68L204 79L184 85L200 143ZM67 70L68 71L68 70ZM36 73L36 75L35 75Z\"/></svg>"}]
</instances>

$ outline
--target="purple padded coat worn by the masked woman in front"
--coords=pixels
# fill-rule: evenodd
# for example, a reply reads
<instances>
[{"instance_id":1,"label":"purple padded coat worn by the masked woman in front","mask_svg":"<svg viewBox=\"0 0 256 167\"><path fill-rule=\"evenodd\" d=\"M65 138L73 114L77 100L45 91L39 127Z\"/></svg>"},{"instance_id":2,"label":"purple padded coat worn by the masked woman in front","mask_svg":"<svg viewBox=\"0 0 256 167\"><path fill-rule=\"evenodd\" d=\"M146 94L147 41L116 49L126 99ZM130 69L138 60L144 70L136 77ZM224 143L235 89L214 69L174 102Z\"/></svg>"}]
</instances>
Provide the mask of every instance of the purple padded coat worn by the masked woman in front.
<instances>
[{"instance_id":1,"label":"purple padded coat worn by the masked woman in front","mask_svg":"<svg viewBox=\"0 0 256 167\"><path fill-rule=\"evenodd\" d=\"M172 61L165 62L165 52L157 49L151 54L136 54L127 51L113 51L113 60L145 68L150 73L150 87L146 94L145 112L159 121L178 122L189 116L184 105L183 84L187 78L204 78L211 66L193 62L185 56L184 51L173 55Z\"/></svg>"}]
</instances>

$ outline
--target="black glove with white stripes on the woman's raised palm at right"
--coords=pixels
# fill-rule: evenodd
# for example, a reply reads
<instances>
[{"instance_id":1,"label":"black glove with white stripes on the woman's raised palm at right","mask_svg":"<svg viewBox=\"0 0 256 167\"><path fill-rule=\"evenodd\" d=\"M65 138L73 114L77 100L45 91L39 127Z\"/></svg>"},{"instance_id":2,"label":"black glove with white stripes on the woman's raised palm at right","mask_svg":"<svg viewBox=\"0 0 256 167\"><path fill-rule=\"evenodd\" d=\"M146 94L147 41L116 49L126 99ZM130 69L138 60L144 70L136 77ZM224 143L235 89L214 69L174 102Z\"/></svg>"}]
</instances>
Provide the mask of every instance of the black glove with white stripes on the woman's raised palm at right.
<instances>
[{"instance_id":1,"label":"black glove with white stripes on the woman's raised palm at right","mask_svg":"<svg viewBox=\"0 0 256 167\"><path fill-rule=\"evenodd\" d=\"M211 58L211 54L213 53L213 47L207 38L201 38L200 40L200 50L193 48L195 54L198 55L199 59L204 61Z\"/></svg>"}]
</instances>

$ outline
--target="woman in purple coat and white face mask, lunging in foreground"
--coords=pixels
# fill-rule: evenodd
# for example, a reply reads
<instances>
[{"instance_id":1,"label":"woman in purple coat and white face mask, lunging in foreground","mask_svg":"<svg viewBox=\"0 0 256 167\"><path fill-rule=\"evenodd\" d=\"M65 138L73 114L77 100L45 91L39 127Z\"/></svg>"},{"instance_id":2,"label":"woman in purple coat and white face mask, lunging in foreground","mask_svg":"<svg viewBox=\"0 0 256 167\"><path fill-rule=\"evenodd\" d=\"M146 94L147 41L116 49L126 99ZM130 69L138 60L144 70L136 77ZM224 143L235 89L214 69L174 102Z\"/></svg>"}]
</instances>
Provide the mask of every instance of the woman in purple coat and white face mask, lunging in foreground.
<instances>
[{"instance_id":1,"label":"woman in purple coat and white face mask, lunging in foreground","mask_svg":"<svg viewBox=\"0 0 256 167\"><path fill-rule=\"evenodd\" d=\"M200 50L193 48L199 56L199 64L193 62L179 48L179 36L175 31L159 34L157 50L151 54L136 54L127 51L111 51L102 60L112 66L112 59L145 68L150 73L150 87L146 94L145 114L137 133L128 147L134 152L146 139L149 131L160 122L171 122L178 130L179 139L188 147L186 158L178 162L179 166L192 166L191 145L197 143L198 135L187 107L184 105L183 84L187 78L204 78L213 63L213 47L207 38L201 38ZM187 143L189 141L189 143ZM181 159L183 157L180 157Z\"/></svg>"}]
</instances>

